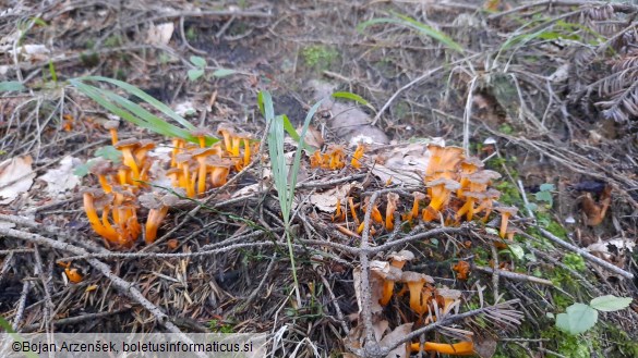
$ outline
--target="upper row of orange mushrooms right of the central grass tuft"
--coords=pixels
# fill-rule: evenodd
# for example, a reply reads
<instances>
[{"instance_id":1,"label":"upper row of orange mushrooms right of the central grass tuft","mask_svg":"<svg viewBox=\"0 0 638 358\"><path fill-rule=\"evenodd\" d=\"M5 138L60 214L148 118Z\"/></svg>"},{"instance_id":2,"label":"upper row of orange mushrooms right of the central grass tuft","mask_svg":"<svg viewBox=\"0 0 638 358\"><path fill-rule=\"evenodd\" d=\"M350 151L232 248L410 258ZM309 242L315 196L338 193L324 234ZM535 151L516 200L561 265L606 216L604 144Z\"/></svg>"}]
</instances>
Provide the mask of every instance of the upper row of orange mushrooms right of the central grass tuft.
<instances>
[{"instance_id":1,"label":"upper row of orange mushrooms right of the central grass tuft","mask_svg":"<svg viewBox=\"0 0 638 358\"><path fill-rule=\"evenodd\" d=\"M501 213L502 238L513 239L515 229L508 229L508 220L517 212L515 207L495 207L493 203L498 199L501 193L492 187L492 182L501 177L501 174L491 170L483 169L483 162L474 157L466 157L462 148L442 147L438 145L428 145L430 161L428 163L423 182L425 193L413 192L411 207L400 215L404 222L412 224L413 221L422 220L424 222L440 221L446 226L459 224L462 220L471 221L476 215L482 214L482 220L487 221L492 211ZM359 148L356 151L356 156ZM352 159L360 164L361 157ZM328 163L342 162L339 151L333 151L326 156ZM313 157L320 158L317 152ZM333 160L333 157L337 159ZM325 162L325 160L324 160ZM332 168L332 164L328 164ZM353 165L354 166L354 165ZM395 215L399 209L400 196L397 193L388 193L385 200L385 218L378 209L378 205L372 206L371 234L374 235L380 230L385 229L392 232L395 229ZM346 202L342 202L346 201ZM344 209L342 205L347 205ZM337 207L333 215L334 222L344 223L339 225L340 231L347 234L360 234L363 231L363 222L359 219L358 209L363 213L368 211L370 198L365 197L363 203L354 202L352 197L337 199ZM350 220L348 220L348 212ZM352 223L354 230L350 230L348 224Z\"/></svg>"}]
</instances>

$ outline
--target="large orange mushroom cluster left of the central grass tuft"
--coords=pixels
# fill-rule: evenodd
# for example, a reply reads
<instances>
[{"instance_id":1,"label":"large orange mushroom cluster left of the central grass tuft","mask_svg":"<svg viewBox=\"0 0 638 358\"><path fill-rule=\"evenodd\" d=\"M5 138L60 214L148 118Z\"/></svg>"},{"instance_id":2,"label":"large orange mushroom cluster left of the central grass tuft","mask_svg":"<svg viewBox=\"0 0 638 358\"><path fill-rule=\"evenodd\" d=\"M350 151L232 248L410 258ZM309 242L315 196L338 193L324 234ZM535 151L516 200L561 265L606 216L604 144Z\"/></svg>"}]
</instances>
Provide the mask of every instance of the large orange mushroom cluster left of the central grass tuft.
<instances>
[{"instance_id":1,"label":"large orange mushroom cluster left of the central grass tuft","mask_svg":"<svg viewBox=\"0 0 638 358\"><path fill-rule=\"evenodd\" d=\"M174 195L155 196L148 182L153 158L148 151L156 147L148 139L118 139L118 122L105 124L111 134L111 143L121 152L121 163L97 160L91 168L100 188L84 190L84 210L93 230L109 247L130 248L142 234L137 218L140 205L148 209L145 223L145 242L151 244L157 237L157 230L177 202ZM220 126L218 134L224 140L207 147L205 131L192 133L198 145L178 138L172 141L170 169L167 176L174 188L182 188L194 198L210 188L226 184L232 170L240 171L251 161L251 137L227 126ZM254 152L254 150L253 150ZM101 213L98 213L101 211Z\"/></svg>"}]
</instances>

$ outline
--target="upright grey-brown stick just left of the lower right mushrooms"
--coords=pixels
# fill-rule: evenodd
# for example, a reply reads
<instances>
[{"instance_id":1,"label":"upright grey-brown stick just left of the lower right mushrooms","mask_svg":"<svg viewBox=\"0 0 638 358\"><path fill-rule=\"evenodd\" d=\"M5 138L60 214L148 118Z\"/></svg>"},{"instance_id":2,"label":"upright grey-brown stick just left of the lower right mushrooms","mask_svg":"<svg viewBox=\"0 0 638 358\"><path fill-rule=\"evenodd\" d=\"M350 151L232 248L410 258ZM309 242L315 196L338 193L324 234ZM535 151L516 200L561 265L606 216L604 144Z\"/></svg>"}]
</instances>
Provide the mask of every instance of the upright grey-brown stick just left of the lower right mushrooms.
<instances>
[{"instance_id":1,"label":"upright grey-brown stick just left of the lower right mushrooms","mask_svg":"<svg viewBox=\"0 0 638 358\"><path fill-rule=\"evenodd\" d=\"M363 347L365 356L369 354L372 356L378 356L381 351L381 346L374 340L374 330L372 328L372 294L370 288L370 262L368 257L368 249L369 243L368 239L370 238L370 219L372 218L372 208L374 208L374 202L378 198L378 193L374 193L370 202L368 203L368 208L365 209L365 217L363 219L363 236L361 237L361 245L359 252L359 261L361 262L361 304L363 307L360 307L361 316L363 317L363 328L365 329L365 346Z\"/></svg>"}]
</instances>

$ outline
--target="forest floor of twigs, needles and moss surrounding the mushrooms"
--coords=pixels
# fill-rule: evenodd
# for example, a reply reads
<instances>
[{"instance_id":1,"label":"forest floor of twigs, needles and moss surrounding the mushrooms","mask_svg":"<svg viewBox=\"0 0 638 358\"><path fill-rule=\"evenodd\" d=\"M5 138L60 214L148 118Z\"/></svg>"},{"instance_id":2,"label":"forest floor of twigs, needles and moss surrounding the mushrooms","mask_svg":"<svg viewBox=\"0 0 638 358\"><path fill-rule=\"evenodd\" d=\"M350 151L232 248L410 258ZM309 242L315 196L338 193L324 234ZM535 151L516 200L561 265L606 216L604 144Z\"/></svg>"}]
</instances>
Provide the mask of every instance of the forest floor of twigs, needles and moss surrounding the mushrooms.
<instances>
[{"instance_id":1,"label":"forest floor of twigs, needles and moss surrounding the mushrooms","mask_svg":"<svg viewBox=\"0 0 638 358\"><path fill-rule=\"evenodd\" d=\"M406 344L419 340L472 342L481 357L637 357L636 300L601 310L585 332L556 325L575 304L637 296L637 14L577 0L8 1L0 314L16 332L267 333L277 357L373 357L374 347L409 357ZM120 120L120 140L154 144L152 180L166 178L172 138L82 86L130 100L111 97L116 108L161 116L157 106L83 76L133 85L215 136L220 125L251 134L256 153L221 187L177 192L152 245L148 229L125 248L108 245L84 194L100 185L87 174L96 158L120 160L104 124ZM316 169L301 151L289 225L261 91L298 132L324 99L306 141L323 152L340 145L348 158ZM361 169L350 164L356 137L370 141ZM348 197L387 217L388 193L408 212L411 193L426 193L409 173L442 140L501 174L492 187L498 205L518 208L514 242L501 242L497 214L455 221L441 210L392 229L359 211L360 233L350 212L335 219ZM284 163L297 146L287 138ZM142 190L152 188L161 185ZM135 220L147 221L137 200ZM401 250L414 256L406 271L433 279L434 301L459 294L452 308L416 312L398 282L377 304L385 281L374 271Z\"/></svg>"}]
</instances>

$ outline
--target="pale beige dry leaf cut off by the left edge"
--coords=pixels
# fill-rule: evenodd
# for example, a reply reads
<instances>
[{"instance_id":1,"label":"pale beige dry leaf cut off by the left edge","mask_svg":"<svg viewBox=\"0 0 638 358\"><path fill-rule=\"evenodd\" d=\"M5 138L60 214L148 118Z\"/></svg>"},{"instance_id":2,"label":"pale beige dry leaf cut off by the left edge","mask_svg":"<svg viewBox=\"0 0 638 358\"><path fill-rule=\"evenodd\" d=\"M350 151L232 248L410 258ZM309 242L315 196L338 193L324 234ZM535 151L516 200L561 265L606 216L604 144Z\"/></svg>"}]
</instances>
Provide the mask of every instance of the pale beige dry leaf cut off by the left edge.
<instances>
[{"instance_id":1,"label":"pale beige dry leaf cut off by the left edge","mask_svg":"<svg viewBox=\"0 0 638 358\"><path fill-rule=\"evenodd\" d=\"M13 201L33 185L35 173L31 156L14 157L0 163L0 205Z\"/></svg>"}]
</instances>

